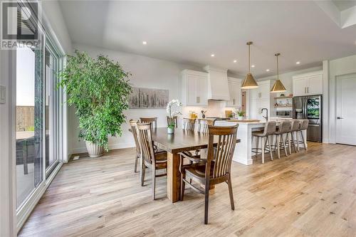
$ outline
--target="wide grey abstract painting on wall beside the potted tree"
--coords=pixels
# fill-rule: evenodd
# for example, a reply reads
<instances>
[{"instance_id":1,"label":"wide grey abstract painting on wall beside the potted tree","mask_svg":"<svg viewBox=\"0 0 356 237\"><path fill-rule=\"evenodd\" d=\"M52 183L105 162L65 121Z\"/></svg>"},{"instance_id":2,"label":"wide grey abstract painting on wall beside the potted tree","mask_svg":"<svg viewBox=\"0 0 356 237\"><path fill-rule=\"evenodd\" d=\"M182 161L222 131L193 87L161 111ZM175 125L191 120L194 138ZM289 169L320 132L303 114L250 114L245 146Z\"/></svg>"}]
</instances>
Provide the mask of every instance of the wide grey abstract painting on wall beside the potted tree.
<instances>
[{"instance_id":1,"label":"wide grey abstract painting on wall beside the potted tree","mask_svg":"<svg viewBox=\"0 0 356 237\"><path fill-rule=\"evenodd\" d=\"M168 103L168 90L132 88L130 109L165 109Z\"/></svg>"}]
</instances>

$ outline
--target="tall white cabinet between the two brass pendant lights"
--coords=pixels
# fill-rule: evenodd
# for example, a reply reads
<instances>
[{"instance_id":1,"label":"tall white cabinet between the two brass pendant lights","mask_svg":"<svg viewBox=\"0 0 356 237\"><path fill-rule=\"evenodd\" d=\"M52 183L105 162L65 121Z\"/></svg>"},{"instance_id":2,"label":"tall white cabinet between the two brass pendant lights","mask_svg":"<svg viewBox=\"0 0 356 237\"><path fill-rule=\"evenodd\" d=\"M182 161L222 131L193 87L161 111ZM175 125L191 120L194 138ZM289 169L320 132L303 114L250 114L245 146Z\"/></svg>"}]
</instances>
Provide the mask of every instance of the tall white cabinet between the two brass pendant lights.
<instances>
[{"instance_id":1,"label":"tall white cabinet between the two brass pendant lights","mask_svg":"<svg viewBox=\"0 0 356 237\"><path fill-rule=\"evenodd\" d=\"M268 117L274 115L273 97L270 93L274 80L263 80L258 82L258 88L249 90L248 118L253 120L264 120L266 112L261 113L262 108L268 109Z\"/></svg>"}]
</instances>

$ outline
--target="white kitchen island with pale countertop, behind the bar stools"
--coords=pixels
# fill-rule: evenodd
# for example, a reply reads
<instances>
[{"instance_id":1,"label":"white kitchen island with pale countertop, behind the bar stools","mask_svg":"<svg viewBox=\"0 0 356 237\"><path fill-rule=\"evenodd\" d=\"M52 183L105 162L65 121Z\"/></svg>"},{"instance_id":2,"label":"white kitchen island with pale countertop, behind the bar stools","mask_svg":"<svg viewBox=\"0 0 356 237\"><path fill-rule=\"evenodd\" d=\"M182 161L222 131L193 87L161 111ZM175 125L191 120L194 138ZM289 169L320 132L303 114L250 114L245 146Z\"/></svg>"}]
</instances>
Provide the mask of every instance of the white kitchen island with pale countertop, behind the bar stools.
<instances>
[{"instance_id":1,"label":"white kitchen island with pale countertop, behind the bar stools","mask_svg":"<svg viewBox=\"0 0 356 237\"><path fill-rule=\"evenodd\" d=\"M277 125L284 119L275 119ZM216 126L234 126L239 124L237 130L237 137L241 142L236 144L233 160L241 164L250 165L253 163L252 156L254 153L251 151L252 147L256 147L256 142L252 144L252 131L263 130L266 121L259 120L226 120L216 121ZM306 137L306 131L303 131L303 136ZM256 139L255 139L256 140Z\"/></svg>"}]
</instances>

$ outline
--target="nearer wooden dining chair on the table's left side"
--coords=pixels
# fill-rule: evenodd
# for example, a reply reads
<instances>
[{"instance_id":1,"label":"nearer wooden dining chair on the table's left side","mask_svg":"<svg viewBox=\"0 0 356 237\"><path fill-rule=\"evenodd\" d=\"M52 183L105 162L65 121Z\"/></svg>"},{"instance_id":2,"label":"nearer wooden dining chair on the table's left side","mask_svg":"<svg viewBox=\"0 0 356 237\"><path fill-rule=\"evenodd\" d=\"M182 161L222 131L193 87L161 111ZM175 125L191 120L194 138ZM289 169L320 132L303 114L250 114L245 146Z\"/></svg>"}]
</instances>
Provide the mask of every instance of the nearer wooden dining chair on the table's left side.
<instances>
[{"instance_id":1,"label":"nearer wooden dining chair on the table's left side","mask_svg":"<svg viewBox=\"0 0 356 237\"><path fill-rule=\"evenodd\" d=\"M152 169L152 197L156 199L156 178L167 176L167 152L155 152L152 140L151 125L147 122L137 123L142 154L141 185L145 183L146 167ZM157 170L166 169L164 174L157 174Z\"/></svg>"}]
</instances>

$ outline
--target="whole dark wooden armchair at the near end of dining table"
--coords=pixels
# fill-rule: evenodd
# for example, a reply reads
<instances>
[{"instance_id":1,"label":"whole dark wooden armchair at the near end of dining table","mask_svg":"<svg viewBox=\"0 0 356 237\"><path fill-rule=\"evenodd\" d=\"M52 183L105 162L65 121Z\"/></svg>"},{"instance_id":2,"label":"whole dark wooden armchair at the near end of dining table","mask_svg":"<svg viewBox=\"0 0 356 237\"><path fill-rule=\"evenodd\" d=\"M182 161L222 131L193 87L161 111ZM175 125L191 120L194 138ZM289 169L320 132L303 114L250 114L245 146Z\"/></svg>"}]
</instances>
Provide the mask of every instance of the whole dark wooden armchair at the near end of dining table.
<instances>
[{"instance_id":1,"label":"whole dark wooden armchair at the near end of dining table","mask_svg":"<svg viewBox=\"0 0 356 237\"><path fill-rule=\"evenodd\" d=\"M233 127L209 126L209 144L208 156L206 159L197 159L188 157L184 153L180 154L179 171L181 173L181 196L184 199L185 184L190 186L194 191L198 191L205 196L204 223L208 223L209 211L209 186L226 182L229 186L229 196L231 209L235 209L234 195L232 194L231 185L231 161L234 156L236 146L236 133L239 125ZM214 137L217 139L216 149L214 149ZM192 164L184 164L184 158L191 160ZM201 189L189 179L203 184Z\"/></svg>"}]
</instances>

